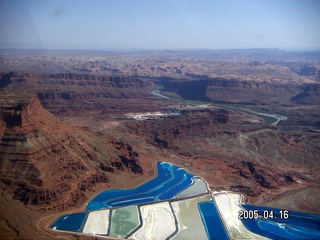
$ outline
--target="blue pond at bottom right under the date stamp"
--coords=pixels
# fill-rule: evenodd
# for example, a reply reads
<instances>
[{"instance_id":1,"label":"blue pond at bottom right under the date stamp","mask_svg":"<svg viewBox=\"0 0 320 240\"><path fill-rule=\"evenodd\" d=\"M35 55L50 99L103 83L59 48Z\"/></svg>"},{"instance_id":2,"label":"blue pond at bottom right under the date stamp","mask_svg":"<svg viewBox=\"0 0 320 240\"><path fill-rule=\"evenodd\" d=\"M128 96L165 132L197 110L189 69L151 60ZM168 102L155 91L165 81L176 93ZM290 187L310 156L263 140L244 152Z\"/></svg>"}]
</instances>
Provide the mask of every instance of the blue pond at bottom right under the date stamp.
<instances>
[{"instance_id":1,"label":"blue pond at bottom right under the date stamp","mask_svg":"<svg viewBox=\"0 0 320 240\"><path fill-rule=\"evenodd\" d=\"M288 211L288 218L281 218L281 209L242 204L246 210L273 212L273 218L242 220L245 227L259 235L273 239L320 239L320 215ZM283 210L282 210L283 211Z\"/></svg>"}]
</instances>

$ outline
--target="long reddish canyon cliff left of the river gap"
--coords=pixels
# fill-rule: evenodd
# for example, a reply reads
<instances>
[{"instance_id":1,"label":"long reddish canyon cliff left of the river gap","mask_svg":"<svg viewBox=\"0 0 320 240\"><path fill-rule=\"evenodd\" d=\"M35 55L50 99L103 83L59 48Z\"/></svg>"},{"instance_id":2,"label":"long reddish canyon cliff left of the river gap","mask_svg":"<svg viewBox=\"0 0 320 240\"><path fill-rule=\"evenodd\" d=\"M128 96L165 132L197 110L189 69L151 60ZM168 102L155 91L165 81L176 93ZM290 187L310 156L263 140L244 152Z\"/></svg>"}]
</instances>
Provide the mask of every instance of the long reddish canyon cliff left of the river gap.
<instances>
[{"instance_id":1,"label":"long reddish canyon cliff left of the river gap","mask_svg":"<svg viewBox=\"0 0 320 240\"><path fill-rule=\"evenodd\" d=\"M92 98L141 98L151 95L150 83L124 76L1 72L0 88L36 91L40 100Z\"/></svg>"}]
</instances>

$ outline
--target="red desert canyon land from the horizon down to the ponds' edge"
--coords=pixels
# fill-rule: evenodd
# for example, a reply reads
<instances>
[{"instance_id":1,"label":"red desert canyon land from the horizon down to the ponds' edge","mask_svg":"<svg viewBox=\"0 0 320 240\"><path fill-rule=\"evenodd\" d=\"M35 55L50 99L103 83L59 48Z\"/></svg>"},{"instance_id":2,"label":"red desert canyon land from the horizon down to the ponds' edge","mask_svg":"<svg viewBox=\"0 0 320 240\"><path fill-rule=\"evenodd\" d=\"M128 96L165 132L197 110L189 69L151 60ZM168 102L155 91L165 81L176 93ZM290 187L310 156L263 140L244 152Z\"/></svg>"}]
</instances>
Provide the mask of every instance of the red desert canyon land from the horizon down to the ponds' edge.
<instances>
[{"instance_id":1,"label":"red desert canyon land from the horizon down to the ponds' edge","mask_svg":"<svg viewBox=\"0 0 320 240\"><path fill-rule=\"evenodd\" d=\"M320 52L1 50L0 110L3 239L80 238L48 226L157 161L320 213Z\"/></svg>"}]
</instances>

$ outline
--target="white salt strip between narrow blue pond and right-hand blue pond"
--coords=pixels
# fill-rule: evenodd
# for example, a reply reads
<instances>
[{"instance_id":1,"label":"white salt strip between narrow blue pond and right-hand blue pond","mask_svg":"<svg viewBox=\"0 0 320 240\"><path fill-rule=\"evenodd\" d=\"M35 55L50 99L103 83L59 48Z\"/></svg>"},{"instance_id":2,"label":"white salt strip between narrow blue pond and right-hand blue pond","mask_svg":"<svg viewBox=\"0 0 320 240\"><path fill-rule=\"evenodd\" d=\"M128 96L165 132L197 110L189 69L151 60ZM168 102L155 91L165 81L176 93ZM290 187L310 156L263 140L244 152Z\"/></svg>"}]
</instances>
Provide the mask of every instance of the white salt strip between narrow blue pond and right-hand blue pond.
<instances>
[{"instance_id":1,"label":"white salt strip between narrow blue pond and right-hand blue pond","mask_svg":"<svg viewBox=\"0 0 320 240\"><path fill-rule=\"evenodd\" d=\"M213 200L229 236L232 239L268 239L248 231L238 218L241 195L232 192L213 192Z\"/></svg>"}]
</instances>

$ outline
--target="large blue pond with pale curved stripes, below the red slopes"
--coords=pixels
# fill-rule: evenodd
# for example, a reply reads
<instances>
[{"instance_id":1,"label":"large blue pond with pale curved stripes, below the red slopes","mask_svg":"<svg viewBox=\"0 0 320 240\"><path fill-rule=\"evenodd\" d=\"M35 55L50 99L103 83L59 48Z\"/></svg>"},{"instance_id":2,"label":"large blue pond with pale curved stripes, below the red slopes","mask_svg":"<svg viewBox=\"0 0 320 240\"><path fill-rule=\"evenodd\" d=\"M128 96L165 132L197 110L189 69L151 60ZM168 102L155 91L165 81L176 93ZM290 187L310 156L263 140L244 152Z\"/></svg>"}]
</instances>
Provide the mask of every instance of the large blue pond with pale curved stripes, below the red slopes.
<instances>
[{"instance_id":1,"label":"large blue pond with pale curved stripes, below the red slopes","mask_svg":"<svg viewBox=\"0 0 320 240\"><path fill-rule=\"evenodd\" d=\"M188 173L185 169L173 166L170 163L157 163L157 176L132 189L115 189L106 190L93 198L86 206L86 210L99 210L110 207L128 206L131 204L148 203L173 198L177 192L170 191L177 187L176 190L188 187L194 175Z\"/></svg>"}]
</instances>

